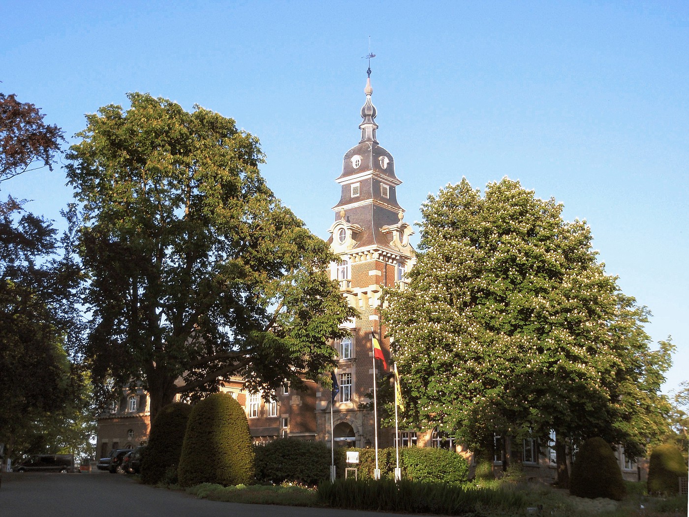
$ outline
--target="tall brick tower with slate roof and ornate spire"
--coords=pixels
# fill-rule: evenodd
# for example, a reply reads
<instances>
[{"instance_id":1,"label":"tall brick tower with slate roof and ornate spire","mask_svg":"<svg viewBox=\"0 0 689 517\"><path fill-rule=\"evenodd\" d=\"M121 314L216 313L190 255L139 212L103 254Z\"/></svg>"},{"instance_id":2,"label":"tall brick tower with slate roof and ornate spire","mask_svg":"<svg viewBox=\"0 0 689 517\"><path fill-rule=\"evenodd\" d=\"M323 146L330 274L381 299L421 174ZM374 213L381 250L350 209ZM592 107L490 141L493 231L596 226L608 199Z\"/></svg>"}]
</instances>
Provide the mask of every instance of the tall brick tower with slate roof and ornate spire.
<instances>
[{"instance_id":1,"label":"tall brick tower with slate roof and ornate spire","mask_svg":"<svg viewBox=\"0 0 689 517\"><path fill-rule=\"evenodd\" d=\"M378 376L390 363L389 339L380 319L380 295L384 287L404 289L406 272L415 261L409 244L411 226L403 221L404 210L397 201L395 161L376 135L376 107L371 101L371 69L361 108L360 141L345 153L340 201L333 207L335 222L329 228L328 243L338 256L332 278L340 284L342 296L360 316L346 325L349 335L333 345L337 350L336 370L340 391L333 403L333 434L336 447L373 446L373 411L369 395L373 389L374 363ZM380 342L384 361L373 358L373 336ZM385 363L385 364L384 364ZM318 435L330 440L331 392L318 394ZM393 432L381 432L379 445L392 445Z\"/></svg>"}]
</instances>

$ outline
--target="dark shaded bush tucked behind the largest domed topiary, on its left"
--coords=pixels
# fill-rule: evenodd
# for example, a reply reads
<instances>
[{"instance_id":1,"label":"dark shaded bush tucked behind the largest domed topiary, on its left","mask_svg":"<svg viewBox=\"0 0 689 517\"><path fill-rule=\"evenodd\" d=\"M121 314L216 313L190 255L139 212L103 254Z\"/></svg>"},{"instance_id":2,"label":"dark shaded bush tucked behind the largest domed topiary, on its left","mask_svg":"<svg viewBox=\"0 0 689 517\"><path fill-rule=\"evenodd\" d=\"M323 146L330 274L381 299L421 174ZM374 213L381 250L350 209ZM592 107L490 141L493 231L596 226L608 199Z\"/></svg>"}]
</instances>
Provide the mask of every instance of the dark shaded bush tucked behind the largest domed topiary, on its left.
<instances>
[{"instance_id":1,"label":"dark shaded bush tucked behind the largest domed topiary, on its left","mask_svg":"<svg viewBox=\"0 0 689 517\"><path fill-rule=\"evenodd\" d=\"M169 478L169 470L176 469L182 454L182 443L192 407L176 402L158 413L151 425L148 447L141 458L141 480L155 485Z\"/></svg>"}]
</instances>

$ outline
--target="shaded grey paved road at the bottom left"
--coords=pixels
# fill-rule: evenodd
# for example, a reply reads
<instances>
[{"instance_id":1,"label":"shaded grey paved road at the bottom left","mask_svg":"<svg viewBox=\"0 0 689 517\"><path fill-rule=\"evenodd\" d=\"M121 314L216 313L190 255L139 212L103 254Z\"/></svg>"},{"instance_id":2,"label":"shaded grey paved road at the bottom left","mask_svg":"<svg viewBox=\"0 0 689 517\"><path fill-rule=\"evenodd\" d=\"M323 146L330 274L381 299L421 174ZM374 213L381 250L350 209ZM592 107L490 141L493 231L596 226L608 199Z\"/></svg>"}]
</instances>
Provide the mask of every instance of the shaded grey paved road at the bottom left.
<instances>
[{"instance_id":1,"label":"shaded grey paved road at the bottom left","mask_svg":"<svg viewBox=\"0 0 689 517\"><path fill-rule=\"evenodd\" d=\"M140 485L128 476L3 472L0 516L7 517L380 517L373 511L240 505ZM409 516L407 516L409 517Z\"/></svg>"}]
</instances>

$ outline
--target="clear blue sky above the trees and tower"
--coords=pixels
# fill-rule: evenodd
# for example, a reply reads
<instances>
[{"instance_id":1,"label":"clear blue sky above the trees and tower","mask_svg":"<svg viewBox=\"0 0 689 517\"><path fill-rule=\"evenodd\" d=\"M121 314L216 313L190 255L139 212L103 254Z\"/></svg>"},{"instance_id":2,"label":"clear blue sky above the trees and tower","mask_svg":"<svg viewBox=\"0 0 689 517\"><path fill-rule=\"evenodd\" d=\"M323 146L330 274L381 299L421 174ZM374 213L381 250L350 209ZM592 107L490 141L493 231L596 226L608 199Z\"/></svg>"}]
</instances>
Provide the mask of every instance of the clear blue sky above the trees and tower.
<instances>
[{"instance_id":1,"label":"clear blue sky above the trees and tower","mask_svg":"<svg viewBox=\"0 0 689 517\"><path fill-rule=\"evenodd\" d=\"M274 192L325 238L359 139L369 36L378 140L404 181L405 220L462 176L554 197L650 308L653 340L672 334L666 391L687 380L686 1L5 0L0 91L70 137L132 91L231 116L260 139ZM64 183L59 169L25 174L1 195L59 219Z\"/></svg>"}]
</instances>

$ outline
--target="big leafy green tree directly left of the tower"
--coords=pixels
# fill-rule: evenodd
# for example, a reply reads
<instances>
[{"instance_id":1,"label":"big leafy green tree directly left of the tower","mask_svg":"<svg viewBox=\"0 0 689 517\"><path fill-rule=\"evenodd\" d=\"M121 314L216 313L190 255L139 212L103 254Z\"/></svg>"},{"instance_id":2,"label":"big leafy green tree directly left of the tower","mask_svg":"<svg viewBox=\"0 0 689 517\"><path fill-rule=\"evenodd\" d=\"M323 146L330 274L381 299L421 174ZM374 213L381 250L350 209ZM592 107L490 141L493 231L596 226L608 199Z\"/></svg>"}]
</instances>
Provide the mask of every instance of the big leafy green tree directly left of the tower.
<instances>
[{"instance_id":1,"label":"big leafy green tree directly left of the tower","mask_svg":"<svg viewBox=\"0 0 689 517\"><path fill-rule=\"evenodd\" d=\"M327 244L260 176L258 141L198 106L128 97L88 115L68 153L94 380L143 381L155 415L233 375L266 393L320 379L353 310Z\"/></svg>"}]
</instances>

